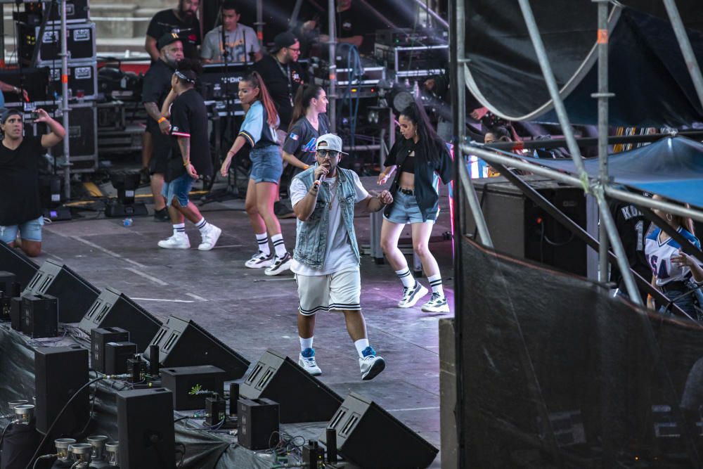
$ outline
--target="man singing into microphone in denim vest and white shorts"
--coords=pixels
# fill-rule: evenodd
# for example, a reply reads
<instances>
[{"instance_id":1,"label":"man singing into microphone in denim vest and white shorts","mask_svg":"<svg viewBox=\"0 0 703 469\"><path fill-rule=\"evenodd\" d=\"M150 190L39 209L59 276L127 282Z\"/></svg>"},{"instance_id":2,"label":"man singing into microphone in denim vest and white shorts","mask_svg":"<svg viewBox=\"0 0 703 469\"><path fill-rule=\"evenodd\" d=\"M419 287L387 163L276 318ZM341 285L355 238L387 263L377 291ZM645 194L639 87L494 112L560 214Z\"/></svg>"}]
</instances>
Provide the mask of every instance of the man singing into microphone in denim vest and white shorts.
<instances>
[{"instance_id":1,"label":"man singing into microphone in denim vest and white shorts","mask_svg":"<svg viewBox=\"0 0 703 469\"><path fill-rule=\"evenodd\" d=\"M372 197L359 176L337 165L342 139L325 134L317 139L316 165L293 178L290 199L297 217L295 252L290 270L298 283L298 364L311 375L322 371L312 348L317 311L342 311L347 331L359 354L361 379L370 380L385 361L368 344L361 314L359 245L354 233L354 205L378 212L393 202L388 191Z\"/></svg>"}]
</instances>

